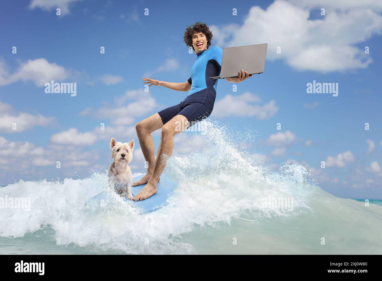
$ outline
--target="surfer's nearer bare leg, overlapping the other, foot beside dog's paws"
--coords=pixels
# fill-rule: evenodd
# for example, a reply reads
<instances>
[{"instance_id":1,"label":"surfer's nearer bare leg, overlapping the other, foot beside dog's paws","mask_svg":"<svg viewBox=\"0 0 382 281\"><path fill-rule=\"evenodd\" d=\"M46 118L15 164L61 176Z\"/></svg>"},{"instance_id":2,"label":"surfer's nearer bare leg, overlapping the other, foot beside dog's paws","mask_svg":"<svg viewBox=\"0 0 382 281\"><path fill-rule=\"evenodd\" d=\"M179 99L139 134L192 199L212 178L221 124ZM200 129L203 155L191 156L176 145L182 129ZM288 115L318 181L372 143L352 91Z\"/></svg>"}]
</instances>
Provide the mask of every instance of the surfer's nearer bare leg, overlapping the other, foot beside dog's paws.
<instances>
[{"instance_id":1,"label":"surfer's nearer bare leg, overlapping the other, foot beside dog's paws","mask_svg":"<svg viewBox=\"0 0 382 281\"><path fill-rule=\"evenodd\" d=\"M167 159L170 158L172 154L174 136L186 130L188 128L188 124L189 122L186 117L178 114L162 127L162 141L157 154L157 160L155 161L154 171L152 172L151 178L147 182L146 186L134 196L133 200L145 200L157 193L157 183L159 177L166 166Z\"/></svg>"}]
</instances>

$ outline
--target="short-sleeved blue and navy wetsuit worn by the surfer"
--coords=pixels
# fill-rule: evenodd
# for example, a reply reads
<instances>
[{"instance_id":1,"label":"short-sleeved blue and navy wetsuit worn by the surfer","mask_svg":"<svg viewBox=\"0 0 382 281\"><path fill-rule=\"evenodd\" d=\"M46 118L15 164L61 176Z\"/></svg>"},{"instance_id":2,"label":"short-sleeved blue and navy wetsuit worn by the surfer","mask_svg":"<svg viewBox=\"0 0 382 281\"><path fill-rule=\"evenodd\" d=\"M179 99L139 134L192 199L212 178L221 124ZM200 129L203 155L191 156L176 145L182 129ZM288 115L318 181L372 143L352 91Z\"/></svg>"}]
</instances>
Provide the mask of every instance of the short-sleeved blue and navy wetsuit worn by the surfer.
<instances>
[{"instance_id":1,"label":"short-sleeved blue and navy wetsuit worn by the surfer","mask_svg":"<svg viewBox=\"0 0 382 281\"><path fill-rule=\"evenodd\" d=\"M163 124L170 121L175 115L181 114L190 122L190 127L209 117L214 108L219 79L210 77L220 75L223 50L215 46L196 55L196 61L191 68L191 77L187 80L191 84L191 90L180 104L158 112Z\"/></svg>"}]
</instances>

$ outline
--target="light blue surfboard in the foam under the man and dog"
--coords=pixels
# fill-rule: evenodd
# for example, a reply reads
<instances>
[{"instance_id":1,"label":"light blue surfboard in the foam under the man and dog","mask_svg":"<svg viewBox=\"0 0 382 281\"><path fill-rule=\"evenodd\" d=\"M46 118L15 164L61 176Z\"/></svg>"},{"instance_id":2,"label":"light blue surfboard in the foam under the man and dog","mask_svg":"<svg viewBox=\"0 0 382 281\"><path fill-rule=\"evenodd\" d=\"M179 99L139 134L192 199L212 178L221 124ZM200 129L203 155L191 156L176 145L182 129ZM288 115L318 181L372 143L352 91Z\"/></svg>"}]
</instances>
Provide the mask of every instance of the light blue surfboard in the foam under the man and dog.
<instances>
[{"instance_id":1,"label":"light blue surfboard in the foam under the man and dog","mask_svg":"<svg viewBox=\"0 0 382 281\"><path fill-rule=\"evenodd\" d=\"M138 181L143 176L144 174L134 177L133 182ZM140 192L145 185L146 184L132 187L131 190L133 192L133 196L136 195L138 192ZM157 193L152 195L152 197L142 201L131 201L131 200L128 200L126 197L124 197L123 201L132 202L134 205L137 206L137 208L139 208L144 213L151 213L168 205L167 198L170 197L170 195L172 195L175 188L176 188L176 183L169 180L165 173L162 173L162 175L160 175L160 181L158 182L158 185L157 185ZM93 209L99 208L102 201L106 201L107 196L110 196L110 191L104 190L103 192L87 200L85 203L85 207L93 208Z\"/></svg>"}]
</instances>

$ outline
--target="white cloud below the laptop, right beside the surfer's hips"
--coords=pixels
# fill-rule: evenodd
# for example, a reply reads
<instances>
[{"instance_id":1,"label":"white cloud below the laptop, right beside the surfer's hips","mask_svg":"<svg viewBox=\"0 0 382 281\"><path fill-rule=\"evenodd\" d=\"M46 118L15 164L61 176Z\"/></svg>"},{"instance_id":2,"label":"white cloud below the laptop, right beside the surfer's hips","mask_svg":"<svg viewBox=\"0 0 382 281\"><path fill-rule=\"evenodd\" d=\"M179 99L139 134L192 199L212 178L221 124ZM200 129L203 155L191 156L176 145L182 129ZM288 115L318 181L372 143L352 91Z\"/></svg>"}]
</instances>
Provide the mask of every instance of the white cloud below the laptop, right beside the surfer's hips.
<instances>
[{"instance_id":1,"label":"white cloud below the laptop, right beside the surfer's hips","mask_svg":"<svg viewBox=\"0 0 382 281\"><path fill-rule=\"evenodd\" d=\"M239 96L228 94L219 101L215 102L212 113L215 117L230 116L256 116L258 119L268 119L274 116L278 111L275 101L271 100L268 104L254 104L260 102L260 98L254 94L246 92Z\"/></svg>"}]
</instances>

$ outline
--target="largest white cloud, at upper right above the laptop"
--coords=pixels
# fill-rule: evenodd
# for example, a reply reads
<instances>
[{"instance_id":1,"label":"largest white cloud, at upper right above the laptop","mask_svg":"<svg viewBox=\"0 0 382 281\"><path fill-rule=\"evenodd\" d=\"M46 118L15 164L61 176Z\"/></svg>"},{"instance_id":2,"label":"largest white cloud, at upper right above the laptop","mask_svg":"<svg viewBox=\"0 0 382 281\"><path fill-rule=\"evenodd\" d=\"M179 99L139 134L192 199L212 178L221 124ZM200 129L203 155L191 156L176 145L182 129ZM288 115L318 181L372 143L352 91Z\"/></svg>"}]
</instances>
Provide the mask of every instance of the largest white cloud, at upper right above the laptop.
<instances>
[{"instance_id":1,"label":"largest white cloud, at upper right above the laptop","mask_svg":"<svg viewBox=\"0 0 382 281\"><path fill-rule=\"evenodd\" d=\"M321 3L314 6L321 8ZM348 7L346 11L327 10L325 16L309 19L311 5L276 0L266 10L252 6L242 25L210 28L217 45L268 43L267 59L283 59L297 70L327 73L366 68L372 59L356 44L381 34L382 16L374 11L374 6L377 5L342 1L342 10ZM280 54L277 47L281 47Z\"/></svg>"}]
</instances>

